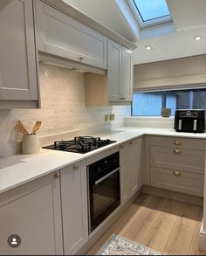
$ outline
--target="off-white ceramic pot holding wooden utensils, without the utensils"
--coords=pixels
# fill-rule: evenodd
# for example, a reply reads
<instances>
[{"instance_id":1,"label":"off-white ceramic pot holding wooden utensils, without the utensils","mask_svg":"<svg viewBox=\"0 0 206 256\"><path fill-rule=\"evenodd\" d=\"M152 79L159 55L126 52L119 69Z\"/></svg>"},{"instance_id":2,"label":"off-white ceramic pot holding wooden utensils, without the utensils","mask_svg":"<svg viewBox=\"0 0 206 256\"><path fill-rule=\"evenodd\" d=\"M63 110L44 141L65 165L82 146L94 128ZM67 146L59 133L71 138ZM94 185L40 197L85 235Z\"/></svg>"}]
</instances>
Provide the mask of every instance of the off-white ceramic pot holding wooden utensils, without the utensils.
<instances>
[{"instance_id":1,"label":"off-white ceramic pot holding wooden utensils, without the utensils","mask_svg":"<svg viewBox=\"0 0 206 256\"><path fill-rule=\"evenodd\" d=\"M38 135L23 135L22 153L25 155L35 154L40 151Z\"/></svg>"}]
</instances>

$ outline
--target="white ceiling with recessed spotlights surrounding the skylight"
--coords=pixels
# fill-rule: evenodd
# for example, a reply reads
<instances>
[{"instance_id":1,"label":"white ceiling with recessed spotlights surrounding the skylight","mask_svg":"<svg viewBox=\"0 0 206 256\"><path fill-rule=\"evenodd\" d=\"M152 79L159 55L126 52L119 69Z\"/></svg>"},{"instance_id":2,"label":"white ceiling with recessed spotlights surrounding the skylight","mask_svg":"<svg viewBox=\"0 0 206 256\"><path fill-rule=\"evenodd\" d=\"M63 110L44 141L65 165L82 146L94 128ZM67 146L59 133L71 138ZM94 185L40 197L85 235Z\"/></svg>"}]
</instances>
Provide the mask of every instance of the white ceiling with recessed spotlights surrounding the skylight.
<instances>
[{"instance_id":1,"label":"white ceiling with recessed spotlights surrounding the skylight","mask_svg":"<svg viewBox=\"0 0 206 256\"><path fill-rule=\"evenodd\" d=\"M141 29L127 0L64 0L138 45L134 64L206 53L206 0L167 0L173 24ZM195 40L196 35L203 38ZM152 49L146 50L150 45Z\"/></svg>"}]
</instances>

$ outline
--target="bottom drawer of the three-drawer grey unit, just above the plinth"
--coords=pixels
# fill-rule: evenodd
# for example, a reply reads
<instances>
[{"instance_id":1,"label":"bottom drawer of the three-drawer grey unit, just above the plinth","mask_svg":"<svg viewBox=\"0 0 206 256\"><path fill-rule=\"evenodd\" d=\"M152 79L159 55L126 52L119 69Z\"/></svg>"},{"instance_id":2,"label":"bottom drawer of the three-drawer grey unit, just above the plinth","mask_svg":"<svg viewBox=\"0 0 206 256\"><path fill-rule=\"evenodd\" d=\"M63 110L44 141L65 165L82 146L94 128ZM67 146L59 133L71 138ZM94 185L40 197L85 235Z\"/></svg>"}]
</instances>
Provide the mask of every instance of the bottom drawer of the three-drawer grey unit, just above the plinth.
<instances>
[{"instance_id":1,"label":"bottom drawer of the three-drawer grey unit, just above the plinth","mask_svg":"<svg viewBox=\"0 0 206 256\"><path fill-rule=\"evenodd\" d=\"M204 176L180 171L180 176L175 176L175 170L151 168L151 185L161 189L175 190L203 197Z\"/></svg>"}]
</instances>

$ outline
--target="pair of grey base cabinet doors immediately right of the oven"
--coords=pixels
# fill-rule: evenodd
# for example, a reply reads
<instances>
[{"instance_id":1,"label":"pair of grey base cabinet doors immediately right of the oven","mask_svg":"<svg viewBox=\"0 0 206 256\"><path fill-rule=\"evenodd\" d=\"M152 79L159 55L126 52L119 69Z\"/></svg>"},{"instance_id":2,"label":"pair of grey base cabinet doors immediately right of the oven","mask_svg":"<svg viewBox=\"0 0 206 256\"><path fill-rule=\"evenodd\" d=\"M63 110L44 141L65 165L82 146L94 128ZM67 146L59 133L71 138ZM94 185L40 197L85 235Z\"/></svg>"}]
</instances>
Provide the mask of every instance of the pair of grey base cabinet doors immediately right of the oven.
<instances>
[{"instance_id":1,"label":"pair of grey base cabinet doors immediately right of the oven","mask_svg":"<svg viewBox=\"0 0 206 256\"><path fill-rule=\"evenodd\" d=\"M141 189L141 138L120 146L120 189L121 203Z\"/></svg>"}]
</instances>

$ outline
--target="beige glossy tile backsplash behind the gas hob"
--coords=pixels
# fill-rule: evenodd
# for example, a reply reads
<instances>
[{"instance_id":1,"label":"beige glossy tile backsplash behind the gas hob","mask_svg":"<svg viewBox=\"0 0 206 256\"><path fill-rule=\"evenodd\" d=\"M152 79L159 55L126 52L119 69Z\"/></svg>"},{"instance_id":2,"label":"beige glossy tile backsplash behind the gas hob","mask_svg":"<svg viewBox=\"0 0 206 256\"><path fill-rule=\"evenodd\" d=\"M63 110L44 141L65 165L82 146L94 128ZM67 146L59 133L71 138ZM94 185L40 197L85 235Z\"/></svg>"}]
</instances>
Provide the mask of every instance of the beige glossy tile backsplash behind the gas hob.
<instances>
[{"instance_id":1,"label":"beige glossy tile backsplash behind the gas hob","mask_svg":"<svg viewBox=\"0 0 206 256\"><path fill-rule=\"evenodd\" d=\"M21 136L17 134L17 120L23 121L31 132L35 121L42 121L39 137L64 134L77 130L110 128L123 125L130 115L130 106L85 107L84 73L55 66L40 65L40 109L0 110L0 157L19 152ZM115 114L115 121L105 122L105 114Z\"/></svg>"}]
</instances>

